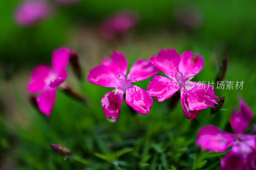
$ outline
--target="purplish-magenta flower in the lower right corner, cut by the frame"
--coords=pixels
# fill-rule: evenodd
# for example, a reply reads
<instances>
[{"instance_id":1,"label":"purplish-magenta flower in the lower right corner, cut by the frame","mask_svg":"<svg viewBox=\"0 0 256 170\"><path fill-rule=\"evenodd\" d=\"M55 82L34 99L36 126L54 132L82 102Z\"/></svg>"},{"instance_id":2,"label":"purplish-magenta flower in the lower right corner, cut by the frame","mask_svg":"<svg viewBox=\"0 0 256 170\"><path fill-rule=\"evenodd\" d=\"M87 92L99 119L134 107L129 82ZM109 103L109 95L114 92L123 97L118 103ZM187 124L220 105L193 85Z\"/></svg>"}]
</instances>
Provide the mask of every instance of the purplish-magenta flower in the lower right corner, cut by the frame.
<instances>
[{"instance_id":1,"label":"purplish-magenta flower in the lower right corner, cut by the frame","mask_svg":"<svg viewBox=\"0 0 256 170\"><path fill-rule=\"evenodd\" d=\"M232 111L230 125L235 131L231 134L214 125L202 127L197 133L196 145L210 152L230 151L221 159L220 170L255 170L256 136L244 133L252 121L252 110L238 96L240 110L236 106Z\"/></svg>"}]
</instances>

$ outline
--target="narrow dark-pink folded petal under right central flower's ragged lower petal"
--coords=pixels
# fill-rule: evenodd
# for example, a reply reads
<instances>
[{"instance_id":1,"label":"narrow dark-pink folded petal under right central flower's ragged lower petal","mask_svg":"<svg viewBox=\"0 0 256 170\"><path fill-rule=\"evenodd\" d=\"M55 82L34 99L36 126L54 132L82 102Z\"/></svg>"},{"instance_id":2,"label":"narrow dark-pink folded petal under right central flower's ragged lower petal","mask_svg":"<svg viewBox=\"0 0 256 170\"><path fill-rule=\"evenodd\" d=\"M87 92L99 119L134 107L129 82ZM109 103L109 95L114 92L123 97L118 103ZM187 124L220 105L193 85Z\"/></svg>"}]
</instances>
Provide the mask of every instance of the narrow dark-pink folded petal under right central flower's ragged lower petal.
<instances>
[{"instance_id":1,"label":"narrow dark-pink folded petal under right central flower's ragged lower petal","mask_svg":"<svg viewBox=\"0 0 256 170\"><path fill-rule=\"evenodd\" d=\"M181 107L183 109L184 115L191 121L197 117L200 111L202 111L202 110L191 110L191 108L189 108L188 101L187 101L187 93L185 93L184 89L180 89L180 103L181 103Z\"/></svg>"}]
</instances>

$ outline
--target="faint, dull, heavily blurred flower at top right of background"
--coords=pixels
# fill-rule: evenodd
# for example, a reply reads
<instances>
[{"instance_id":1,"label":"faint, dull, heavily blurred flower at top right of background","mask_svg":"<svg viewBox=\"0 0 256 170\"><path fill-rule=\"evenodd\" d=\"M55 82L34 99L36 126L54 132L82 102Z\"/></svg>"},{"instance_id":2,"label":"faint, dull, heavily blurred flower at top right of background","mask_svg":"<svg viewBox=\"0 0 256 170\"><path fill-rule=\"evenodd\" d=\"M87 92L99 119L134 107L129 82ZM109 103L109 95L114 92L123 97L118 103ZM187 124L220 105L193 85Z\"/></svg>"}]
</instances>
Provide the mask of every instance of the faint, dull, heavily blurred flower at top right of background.
<instances>
[{"instance_id":1,"label":"faint, dull, heavily blurred flower at top right of background","mask_svg":"<svg viewBox=\"0 0 256 170\"><path fill-rule=\"evenodd\" d=\"M178 22L188 27L200 27L203 23L203 15L194 3L179 4L174 9L174 16Z\"/></svg>"}]
</instances>

